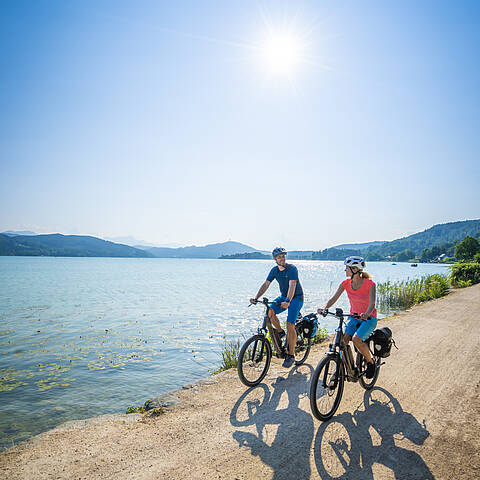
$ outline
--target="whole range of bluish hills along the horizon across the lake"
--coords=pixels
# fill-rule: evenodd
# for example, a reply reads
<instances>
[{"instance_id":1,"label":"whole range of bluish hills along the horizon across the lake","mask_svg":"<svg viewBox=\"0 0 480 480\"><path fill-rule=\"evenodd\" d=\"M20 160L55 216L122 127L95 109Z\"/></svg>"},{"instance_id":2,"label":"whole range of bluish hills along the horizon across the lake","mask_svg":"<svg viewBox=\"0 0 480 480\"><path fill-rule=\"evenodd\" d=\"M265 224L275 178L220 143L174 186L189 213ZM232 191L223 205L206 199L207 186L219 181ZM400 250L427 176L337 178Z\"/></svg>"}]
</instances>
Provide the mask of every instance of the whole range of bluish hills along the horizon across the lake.
<instances>
[{"instance_id":1,"label":"whole range of bluish hills along the horizon across the lake","mask_svg":"<svg viewBox=\"0 0 480 480\"><path fill-rule=\"evenodd\" d=\"M426 248L455 243L466 235L478 236L480 220L465 220L434 225L431 228L391 242L341 244L325 250L293 250L289 258L338 260L347 255L363 255L382 260L403 251L418 256ZM125 237L132 238L132 237ZM243 254L243 255L242 255ZM239 242L213 243L205 246L179 248L152 247L114 243L81 235L36 235L34 232L9 230L0 234L0 255L62 256L62 257L133 257L133 258L262 258L270 252Z\"/></svg>"}]
</instances>

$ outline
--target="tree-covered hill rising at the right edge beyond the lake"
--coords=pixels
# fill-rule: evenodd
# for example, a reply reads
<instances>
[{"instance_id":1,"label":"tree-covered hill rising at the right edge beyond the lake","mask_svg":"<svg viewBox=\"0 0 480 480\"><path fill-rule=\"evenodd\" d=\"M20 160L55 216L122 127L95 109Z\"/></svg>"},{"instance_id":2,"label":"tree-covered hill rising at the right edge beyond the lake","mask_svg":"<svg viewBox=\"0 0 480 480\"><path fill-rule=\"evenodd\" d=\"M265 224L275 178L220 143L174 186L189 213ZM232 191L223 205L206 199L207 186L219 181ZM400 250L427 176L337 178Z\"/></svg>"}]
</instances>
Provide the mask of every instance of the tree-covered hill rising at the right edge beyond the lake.
<instances>
[{"instance_id":1,"label":"tree-covered hill rising at the right edge beyond the lake","mask_svg":"<svg viewBox=\"0 0 480 480\"><path fill-rule=\"evenodd\" d=\"M370 247L365 253L366 256L377 255L386 257L405 250L411 250L415 255L419 255L425 248L432 248L450 242L459 242L467 235L476 237L479 233L480 220L442 223L427 228L423 232Z\"/></svg>"}]
</instances>

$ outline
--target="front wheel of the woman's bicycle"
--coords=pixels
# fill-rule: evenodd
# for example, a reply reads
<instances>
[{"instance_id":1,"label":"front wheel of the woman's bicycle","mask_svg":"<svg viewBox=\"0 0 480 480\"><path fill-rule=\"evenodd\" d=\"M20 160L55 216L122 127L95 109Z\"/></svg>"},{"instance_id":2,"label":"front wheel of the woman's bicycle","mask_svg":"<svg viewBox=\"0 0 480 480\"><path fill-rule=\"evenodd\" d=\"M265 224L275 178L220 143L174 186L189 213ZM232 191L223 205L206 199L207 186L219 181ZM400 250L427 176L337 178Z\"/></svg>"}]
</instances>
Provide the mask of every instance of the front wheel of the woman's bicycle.
<instances>
[{"instance_id":1,"label":"front wheel of the woman's bicycle","mask_svg":"<svg viewBox=\"0 0 480 480\"><path fill-rule=\"evenodd\" d=\"M335 378L338 372L338 378ZM310 408L322 421L333 417L340 405L345 382L343 363L338 355L326 355L318 364L310 384Z\"/></svg>"}]
</instances>

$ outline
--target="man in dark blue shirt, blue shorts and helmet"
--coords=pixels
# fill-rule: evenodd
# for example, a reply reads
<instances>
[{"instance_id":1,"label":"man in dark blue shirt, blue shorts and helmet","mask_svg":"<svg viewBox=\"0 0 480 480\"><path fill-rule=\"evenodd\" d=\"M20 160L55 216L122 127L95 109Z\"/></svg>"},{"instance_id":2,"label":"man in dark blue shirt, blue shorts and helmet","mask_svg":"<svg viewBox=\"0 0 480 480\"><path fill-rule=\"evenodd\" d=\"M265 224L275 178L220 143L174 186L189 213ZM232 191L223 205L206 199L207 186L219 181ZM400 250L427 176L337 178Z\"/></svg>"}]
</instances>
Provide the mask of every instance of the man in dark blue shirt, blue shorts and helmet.
<instances>
[{"instance_id":1,"label":"man in dark blue shirt, blue shorts and helmet","mask_svg":"<svg viewBox=\"0 0 480 480\"><path fill-rule=\"evenodd\" d=\"M268 311L268 316L273 326L277 330L280 338L285 336L285 332L280 326L277 314L288 309L287 315L287 332L288 332L288 354L285 357L283 366L290 368L295 362L295 345L297 343L297 331L295 330L295 322L297 321L300 309L303 306L303 290L298 280L297 267L286 263L287 251L282 247L277 247L272 252L273 259L277 264L270 270L267 279L258 290L255 298L250 299L250 303L258 300L268 289L273 280L277 280L280 287L280 296L275 302L280 305L272 305Z\"/></svg>"}]
</instances>

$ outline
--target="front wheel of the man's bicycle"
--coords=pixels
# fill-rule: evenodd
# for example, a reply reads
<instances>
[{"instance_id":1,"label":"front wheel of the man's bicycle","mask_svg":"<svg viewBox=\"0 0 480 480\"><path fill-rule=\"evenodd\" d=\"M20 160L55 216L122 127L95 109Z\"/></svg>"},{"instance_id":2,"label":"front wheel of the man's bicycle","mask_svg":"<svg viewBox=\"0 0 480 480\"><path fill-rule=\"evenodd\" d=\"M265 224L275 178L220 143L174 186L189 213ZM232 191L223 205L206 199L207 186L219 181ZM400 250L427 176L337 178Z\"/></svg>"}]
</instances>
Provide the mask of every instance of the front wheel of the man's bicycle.
<instances>
[{"instance_id":1,"label":"front wheel of the man's bicycle","mask_svg":"<svg viewBox=\"0 0 480 480\"><path fill-rule=\"evenodd\" d=\"M258 385L268 372L272 358L272 347L263 335L250 337L238 354L237 371L247 387Z\"/></svg>"}]
</instances>

